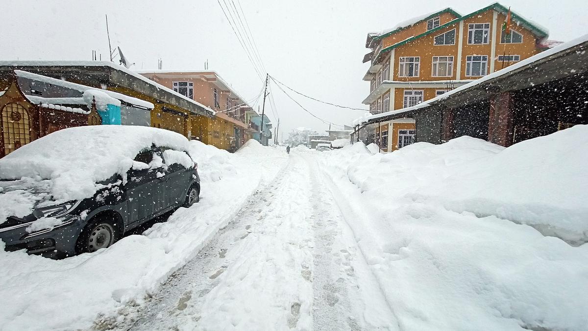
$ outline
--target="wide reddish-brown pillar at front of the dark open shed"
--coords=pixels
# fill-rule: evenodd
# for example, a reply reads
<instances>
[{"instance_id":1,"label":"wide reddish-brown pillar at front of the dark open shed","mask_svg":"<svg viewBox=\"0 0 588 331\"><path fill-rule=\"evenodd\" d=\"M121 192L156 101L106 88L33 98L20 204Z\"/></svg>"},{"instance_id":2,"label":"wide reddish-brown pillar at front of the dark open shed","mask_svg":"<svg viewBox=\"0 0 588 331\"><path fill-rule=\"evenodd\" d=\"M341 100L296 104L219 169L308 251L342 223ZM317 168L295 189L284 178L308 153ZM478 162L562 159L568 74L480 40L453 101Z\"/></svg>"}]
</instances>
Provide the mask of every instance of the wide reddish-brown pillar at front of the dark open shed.
<instances>
[{"instance_id":1,"label":"wide reddish-brown pillar at front of the dark open shed","mask_svg":"<svg viewBox=\"0 0 588 331\"><path fill-rule=\"evenodd\" d=\"M510 92L501 92L490 98L488 141L504 147L513 143L515 114Z\"/></svg>"}]
</instances>

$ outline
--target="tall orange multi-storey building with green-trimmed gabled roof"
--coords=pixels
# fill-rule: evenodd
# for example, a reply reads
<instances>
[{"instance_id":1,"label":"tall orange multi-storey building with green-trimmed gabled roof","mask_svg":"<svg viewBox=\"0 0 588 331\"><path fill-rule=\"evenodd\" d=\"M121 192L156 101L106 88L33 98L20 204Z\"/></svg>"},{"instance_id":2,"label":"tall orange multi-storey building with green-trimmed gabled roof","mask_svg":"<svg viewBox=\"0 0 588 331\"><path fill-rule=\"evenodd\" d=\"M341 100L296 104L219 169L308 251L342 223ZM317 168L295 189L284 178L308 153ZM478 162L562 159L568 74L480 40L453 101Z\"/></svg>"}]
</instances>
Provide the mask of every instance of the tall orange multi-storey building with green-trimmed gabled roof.
<instances>
[{"instance_id":1,"label":"tall orange multi-storey building with green-trimmed gabled roof","mask_svg":"<svg viewBox=\"0 0 588 331\"><path fill-rule=\"evenodd\" d=\"M363 103L372 114L411 107L544 50L547 31L515 12L506 34L508 13L499 3L464 16L446 8L368 34ZM393 151L414 141L415 122L379 123L374 133L382 151Z\"/></svg>"}]
</instances>

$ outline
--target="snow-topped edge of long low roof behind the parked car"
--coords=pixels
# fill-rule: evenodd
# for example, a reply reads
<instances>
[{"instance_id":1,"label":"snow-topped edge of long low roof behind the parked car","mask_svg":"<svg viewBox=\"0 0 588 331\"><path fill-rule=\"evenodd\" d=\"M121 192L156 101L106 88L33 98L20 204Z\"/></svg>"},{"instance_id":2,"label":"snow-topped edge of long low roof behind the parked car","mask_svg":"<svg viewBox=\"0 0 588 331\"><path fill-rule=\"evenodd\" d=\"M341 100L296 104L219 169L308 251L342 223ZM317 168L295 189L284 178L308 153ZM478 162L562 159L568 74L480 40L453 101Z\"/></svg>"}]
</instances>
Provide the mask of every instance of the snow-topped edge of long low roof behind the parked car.
<instances>
[{"instance_id":1,"label":"snow-topped edge of long low roof behind the parked car","mask_svg":"<svg viewBox=\"0 0 588 331\"><path fill-rule=\"evenodd\" d=\"M154 81L150 80L149 78L147 78L141 74L138 74L137 72L131 71L128 68L123 67L122 65L118 65L118 64L116 64L114 62L110 62L110 61L0 61L0 66L2 66L2 65L12 66L12 67L15 67L15 66L110 67L115 70L121 71L121 72L125 73L126 75L130 75L132 77L135 77L138 80L145 82L146 84L149 84L149 85L152 85L152 86L158 88L159 90L163 90L165 92L168 92L170 94L175 95L176 97L182 98L183 100L186 100L186 101L190 102L191 104L194 104L200 108L203 108L206 112L208 112L211 115L215 114L214 110L212 110L209 107L206 107L205 105L201 104L200 102L192 100L191 98L188 98L183 94L180 94L178 92L173 91L171 88L165 87L165 86L159 84L158 82L154 82Z\"/></svg>"}]
</instances>

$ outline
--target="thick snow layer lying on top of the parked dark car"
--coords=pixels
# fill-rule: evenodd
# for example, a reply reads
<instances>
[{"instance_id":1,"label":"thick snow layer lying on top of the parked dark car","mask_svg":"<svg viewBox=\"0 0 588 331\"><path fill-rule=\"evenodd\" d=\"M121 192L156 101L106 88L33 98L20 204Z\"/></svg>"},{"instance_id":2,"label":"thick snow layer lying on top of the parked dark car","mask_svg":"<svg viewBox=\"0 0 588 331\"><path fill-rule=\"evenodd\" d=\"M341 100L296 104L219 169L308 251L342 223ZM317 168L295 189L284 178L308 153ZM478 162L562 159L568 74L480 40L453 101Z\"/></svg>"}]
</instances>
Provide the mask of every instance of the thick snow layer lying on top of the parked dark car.
<instances>
[{"instance_id":1,"label":"thick snow layer lying on top of the parked dark car","mask_svg":"<svg viewBox=\"0 0 588 331\"><path fill-rule=\"evenodd\" d=\"M139 151L151 145L188 150L183 135L151 127L92 125L66 128L32 141L0 160L0 179L52 181L58 201L91 197L97 182L126 176Z\"/></svg>"}]
</instances>

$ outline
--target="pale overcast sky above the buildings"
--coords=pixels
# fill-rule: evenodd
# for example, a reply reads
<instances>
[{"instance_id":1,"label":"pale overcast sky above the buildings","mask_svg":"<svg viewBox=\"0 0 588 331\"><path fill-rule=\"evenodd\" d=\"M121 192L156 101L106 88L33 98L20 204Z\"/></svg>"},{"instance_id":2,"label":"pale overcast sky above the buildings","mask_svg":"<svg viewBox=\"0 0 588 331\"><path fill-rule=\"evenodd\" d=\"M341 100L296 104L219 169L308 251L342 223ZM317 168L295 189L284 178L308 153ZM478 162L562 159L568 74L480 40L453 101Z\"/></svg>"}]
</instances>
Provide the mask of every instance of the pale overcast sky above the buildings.
<instances>
[{"instance_id":1,"label":"pale overcast sky above the buildings","mask_svg":"<svg viewBox=\"0 0 588 331\"><path fill-rule=\"evenodd\" d=\"M237 4L236 0L235 4ZM223 4L223 0L220 0ZM455 1L275 1L241 0L270 75L320 100L355 108L369 93L362 81L366 34L397 22L451 6L462 15L483 8L486 0ZM586 0L502 1L513 11L549 29L550 39L567 41L588 33ZM209 69L217 71L246 99L262 88L238 39L216 0L210 1L18 1L2 6L4 29L0 59L89 60L92 49L108 57L104 15L111 43L136 62L132 68ZM326 130L274 85L276 110L284 138L296 127ZM292 94L292 93L291 93ZM292 94L313 114L349 124L362 111L344 110ZM275 126L275 125L274 125Z\"/></svg>"}]
</instances>

